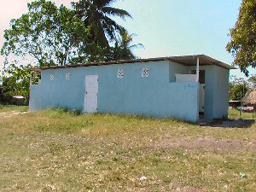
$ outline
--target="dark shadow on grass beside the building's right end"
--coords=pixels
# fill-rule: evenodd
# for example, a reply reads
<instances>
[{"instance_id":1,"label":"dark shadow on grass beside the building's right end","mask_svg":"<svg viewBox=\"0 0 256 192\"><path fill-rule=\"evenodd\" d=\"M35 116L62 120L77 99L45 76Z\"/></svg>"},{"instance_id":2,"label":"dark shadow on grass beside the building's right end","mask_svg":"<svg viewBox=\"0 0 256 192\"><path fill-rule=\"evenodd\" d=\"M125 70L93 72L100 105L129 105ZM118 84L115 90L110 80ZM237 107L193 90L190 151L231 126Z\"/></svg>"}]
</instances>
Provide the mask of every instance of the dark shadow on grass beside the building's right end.
<instances>
[{"instance_id":1,"label":"dark shadow on grass beside the building's right end","mask_svg":"<svg viewBox=\"0 0 256 192\"><path fill-rule=\"evenodd\" d=\"M218 119L207 123L207 126L222 128L250 128L254 123L254 119Z\"/></svg>"}]
</instances>

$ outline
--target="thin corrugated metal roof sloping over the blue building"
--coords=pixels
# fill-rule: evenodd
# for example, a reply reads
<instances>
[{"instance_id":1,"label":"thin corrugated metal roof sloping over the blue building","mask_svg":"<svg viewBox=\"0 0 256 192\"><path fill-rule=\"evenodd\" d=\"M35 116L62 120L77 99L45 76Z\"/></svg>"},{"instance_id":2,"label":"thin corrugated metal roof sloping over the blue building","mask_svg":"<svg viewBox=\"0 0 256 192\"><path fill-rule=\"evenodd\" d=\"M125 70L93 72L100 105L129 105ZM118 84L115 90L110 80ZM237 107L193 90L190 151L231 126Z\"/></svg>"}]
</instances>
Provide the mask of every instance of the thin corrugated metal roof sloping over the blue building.
<instances>
[{"instance_id":1,"label":"thin corrugated metal roof sloping over the blue building","mask_svg":"<svg viewBox=\"0 0 256 192\"><path fill-rule=\"evenodd\" d=\"M222 61L213 59L212 57L207 55L182 55L182 56L156 57L156 58L148 58L148 59L99 61L99 62L90 62L90 63L81 63L81 64L71 64L71 65L65 65L65 66L40 67L40 68L32 68L32 71L41 71L45 69L68 68L68 67L104 66L104 65L113 65L113 64L150 62L150 61L173 61L184 66L195 66L198 57L200 58L201 66L215 65L219 67L224 67L226 69L236 69L236 67L230 66Z\"/></svg>"}]
</instances>

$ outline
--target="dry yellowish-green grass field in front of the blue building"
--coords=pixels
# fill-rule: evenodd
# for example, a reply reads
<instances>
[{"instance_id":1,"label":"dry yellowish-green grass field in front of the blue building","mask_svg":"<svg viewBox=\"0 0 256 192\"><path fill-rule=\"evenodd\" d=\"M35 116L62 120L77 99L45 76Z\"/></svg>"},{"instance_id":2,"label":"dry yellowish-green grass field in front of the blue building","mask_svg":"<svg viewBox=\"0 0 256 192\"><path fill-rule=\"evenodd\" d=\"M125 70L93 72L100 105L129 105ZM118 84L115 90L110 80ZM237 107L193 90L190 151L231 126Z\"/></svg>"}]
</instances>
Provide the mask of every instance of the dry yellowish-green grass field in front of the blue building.
<instances>
[{"instance_id":1,"label":"dry yellowish-green grass field in front of the blue building","mask_svg":"<svg viewBox=\"0 0 256 192\"><path fill-rule=\"evenodd\" d=\"M24 111L0 109L0 191L256 189L255 124L218 128L61 109ZM238 114L230 111L231 118ZM253 113L243 117L253 119Z\"/></svg>"}]
</instances>

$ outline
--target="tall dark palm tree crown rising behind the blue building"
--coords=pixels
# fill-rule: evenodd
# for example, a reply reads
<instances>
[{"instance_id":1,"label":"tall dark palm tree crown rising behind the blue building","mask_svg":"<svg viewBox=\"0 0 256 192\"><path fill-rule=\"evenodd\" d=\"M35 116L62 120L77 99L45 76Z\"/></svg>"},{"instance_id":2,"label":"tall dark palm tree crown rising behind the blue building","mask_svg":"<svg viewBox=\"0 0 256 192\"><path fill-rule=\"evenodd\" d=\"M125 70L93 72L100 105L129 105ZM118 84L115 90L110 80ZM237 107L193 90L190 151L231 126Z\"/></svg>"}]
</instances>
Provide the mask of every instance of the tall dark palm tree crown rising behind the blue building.
<instances>
[{"instance_id":1,"label":"tall dark palm tree crown rising behind the blue building","mask_svg":"<svg viewBox=\"0 0 256 192\"><path fill-rule=\"evenodd\" d=\"M111 7L113 2L115 0L79 0L72 3L77 15L91 26L90 42L98 42L102 47L109 47L108 39L116 40L117 34L125 32L125 28L109 16L131 17L127 11Z\"/></svg>"}]
</instances>

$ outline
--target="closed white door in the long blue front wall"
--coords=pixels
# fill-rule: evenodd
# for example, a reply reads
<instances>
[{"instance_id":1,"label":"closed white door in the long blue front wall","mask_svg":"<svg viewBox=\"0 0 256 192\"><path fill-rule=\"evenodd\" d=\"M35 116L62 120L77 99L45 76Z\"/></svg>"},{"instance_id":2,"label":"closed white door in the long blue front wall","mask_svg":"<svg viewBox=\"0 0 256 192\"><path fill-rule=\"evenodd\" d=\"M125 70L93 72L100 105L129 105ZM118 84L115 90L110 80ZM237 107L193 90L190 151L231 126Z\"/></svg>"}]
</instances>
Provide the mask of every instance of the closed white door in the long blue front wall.
<instances>
[{"instance_id":1,"label":"closed white door in the long blue front wall","mask_svg":"<svg viewBox=\"0 0 256 192\"><path fill-rule=\"evenodd\" d=\"M85 76L84 111L96 113L98 108L98 76Z\"/></svg>"}]
</instances>

